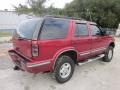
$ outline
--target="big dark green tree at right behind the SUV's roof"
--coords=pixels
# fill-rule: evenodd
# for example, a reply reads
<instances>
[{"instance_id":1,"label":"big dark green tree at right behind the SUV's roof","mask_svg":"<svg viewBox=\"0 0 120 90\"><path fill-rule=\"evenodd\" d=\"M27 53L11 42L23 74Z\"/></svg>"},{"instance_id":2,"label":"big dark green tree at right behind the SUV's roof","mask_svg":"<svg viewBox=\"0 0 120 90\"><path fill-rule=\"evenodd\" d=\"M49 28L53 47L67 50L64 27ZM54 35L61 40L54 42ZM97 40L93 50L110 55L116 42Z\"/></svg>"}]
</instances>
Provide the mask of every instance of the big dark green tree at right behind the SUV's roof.
<instances>
[{"instance_id":1,"label":"big dark green tree at right behind the SUV's roof","mask_svg":"<svg viewBox=\"0 0 120 90\"><path fill-rule=\"evenodd\" d=\"M91 20L102 27L116 28L120 21L120 0L74 0L65 10L68 16Z\"/></svg>"}]
</instances>

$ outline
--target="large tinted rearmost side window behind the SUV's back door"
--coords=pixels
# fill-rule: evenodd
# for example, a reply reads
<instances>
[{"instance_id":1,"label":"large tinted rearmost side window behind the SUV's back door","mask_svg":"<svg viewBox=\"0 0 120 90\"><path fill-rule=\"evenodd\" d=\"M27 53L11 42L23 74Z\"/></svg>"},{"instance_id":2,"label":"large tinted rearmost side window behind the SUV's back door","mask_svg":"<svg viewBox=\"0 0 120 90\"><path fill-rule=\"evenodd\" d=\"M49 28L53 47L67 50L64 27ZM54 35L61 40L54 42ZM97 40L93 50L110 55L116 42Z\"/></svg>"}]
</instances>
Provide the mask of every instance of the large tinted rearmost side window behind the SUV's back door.
<instances>
[{"instance_id":1,"label":"large tinted rearmost side window behind the SUV's back door","mask_svg":"<svg viewBox=\"0 0 120 90\"><path fill-rule=\"evenodd\" d=\"M69 20L46 19L41 30L41 40L63 39L67 36Z\"/></svg>"}]
</instances>

